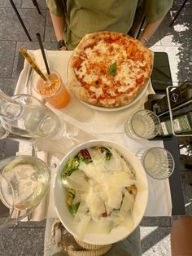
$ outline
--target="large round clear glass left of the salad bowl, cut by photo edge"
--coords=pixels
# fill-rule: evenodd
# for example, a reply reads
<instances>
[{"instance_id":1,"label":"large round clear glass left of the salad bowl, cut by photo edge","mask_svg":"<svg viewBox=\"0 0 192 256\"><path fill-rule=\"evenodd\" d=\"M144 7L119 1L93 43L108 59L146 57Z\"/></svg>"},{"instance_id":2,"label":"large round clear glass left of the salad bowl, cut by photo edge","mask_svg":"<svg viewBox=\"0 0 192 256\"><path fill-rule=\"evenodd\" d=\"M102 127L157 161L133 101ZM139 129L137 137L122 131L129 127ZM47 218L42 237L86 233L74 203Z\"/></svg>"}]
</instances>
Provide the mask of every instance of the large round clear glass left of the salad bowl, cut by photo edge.
<instances>
[{"instance_id":1,"label":"large round clear glass left of the salad bowl, cut by photo edge","mask_svg":"<svg viewBox=\"0 0 192 256\"><path fill-rule=\"evenodd\" d=\"M37 157L0 161L0 230L30 214L50 188L50 170Z\"/></svg>"}]
</instances>

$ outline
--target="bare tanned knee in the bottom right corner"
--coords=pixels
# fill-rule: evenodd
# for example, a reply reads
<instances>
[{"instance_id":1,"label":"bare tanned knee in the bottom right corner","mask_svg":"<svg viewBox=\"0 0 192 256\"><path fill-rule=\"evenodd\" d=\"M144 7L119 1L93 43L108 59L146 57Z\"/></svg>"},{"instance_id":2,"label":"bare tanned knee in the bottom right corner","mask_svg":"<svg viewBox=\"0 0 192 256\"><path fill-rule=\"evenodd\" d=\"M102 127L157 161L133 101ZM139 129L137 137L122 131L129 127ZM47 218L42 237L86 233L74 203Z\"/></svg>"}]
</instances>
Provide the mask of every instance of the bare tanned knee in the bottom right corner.
<instances>
[{"instance_id":1,"label":"bare tanned knee in the bottom right corner","mask_svg":"<svg viewBox=\"0 0 192 256\"><path fill-rule=\"evenodd\" d=\"M183 216L172 225L172 256L192 255L192 216Z\"/></svg>"}]
</instances>

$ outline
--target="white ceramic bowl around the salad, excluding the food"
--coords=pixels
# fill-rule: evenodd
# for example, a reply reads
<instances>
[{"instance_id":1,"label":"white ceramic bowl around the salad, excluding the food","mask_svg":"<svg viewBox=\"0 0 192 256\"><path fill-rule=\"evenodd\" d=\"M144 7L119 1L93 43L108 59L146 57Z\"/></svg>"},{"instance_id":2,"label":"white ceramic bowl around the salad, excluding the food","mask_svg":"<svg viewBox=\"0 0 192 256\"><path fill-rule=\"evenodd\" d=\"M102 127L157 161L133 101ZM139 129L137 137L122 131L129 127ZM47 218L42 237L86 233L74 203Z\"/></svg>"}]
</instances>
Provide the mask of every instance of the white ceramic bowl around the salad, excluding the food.
<instances>
[{"instance_id":1,"label":"white ceramic bowl around the salad, excluding the food","mask_svg":"<svg viewBox=\"0 0 192 256\"><path fill-rule=\"evenodd\" d=\"M133 169L136 172L136 179L137 179L137 196L135 198L135 202L133 205L133 227L128 229L127 227L118 226L111 230L110 234L106 235L96 235L96 234L89 234L85 233L84 238L82 241L92 245L109 245L112 243L116 243L124 239L126 236L129 236L131 232L138 226L141 222L142 217L146 210L146 204L148 199L148 183L146 179L145 170L142 167L140 161L138 161L137 157L131 152L128 148L124 146L114 143L109 140L89 140L86 143L82 143L78 145L76 148L73 148L68 154L63 158L61 161L58 172L55 176L54 182L54 199L55 199L55 210L58 214L58 217L63 223L63 226L77 238L76 227L73 223L72 214L70 214L68 210L68 206L65 203L65 188L62 183L61 173L63 171L63 167L66 165L68 161L68 157L76 156L76 154L84 148L90 148L97 145L109 146L116 148L120 155L124 157L126 161L128 161Z\"/></svg>"}]
</instances>

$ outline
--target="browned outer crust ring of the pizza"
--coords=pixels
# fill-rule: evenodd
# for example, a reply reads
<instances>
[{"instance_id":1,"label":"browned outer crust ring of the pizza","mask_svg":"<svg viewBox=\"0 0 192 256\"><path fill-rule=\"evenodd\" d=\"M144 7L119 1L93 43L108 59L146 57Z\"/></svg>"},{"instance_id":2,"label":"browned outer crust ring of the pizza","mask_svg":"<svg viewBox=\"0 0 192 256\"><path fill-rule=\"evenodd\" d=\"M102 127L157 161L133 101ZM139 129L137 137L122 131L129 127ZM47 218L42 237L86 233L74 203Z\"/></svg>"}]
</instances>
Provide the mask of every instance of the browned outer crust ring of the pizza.
<instances>
[{"instance_id":1,"label":"browned outer crust ring of the pizza","mask_svg":"<svg viewBox=\"0 0 192 256\"><path fill-rule=\"evenodd\" d=\"M99 95L99 93L101 93L101 90L103 90L103 84L99 84L99 86L96 86L95 84L93 85L93 82L86 82L86 86L84 86L84 84L82 85L81 82L79 81L79 77L76 75L76 61L79 60L81 58L81 61L84 58L86 49L94 44L98 44L101 42L101 40L104 38L106 40L106 38L116 38L116 37L122 37L123 40L124 38L126 38L127 40L127 46L124 48L125 51L126 49L129 49L129 46L131 44L131 42L134 43L134 45L137 46L137 50L138 51L143 51L144 52L144 57L145 57L145 61L144 63L146 64L146 72L143 75L143 82L141 84L138 84L137 86L133 86L132 90L129 92L122 92L119 93L119 95L116 95L114 97L111 98L107 98L105 96L103 97L95 97L95 95ZM109 43L110 44L110 43ZM133 49L134 52L134 49ZM103 53L105 54L105 51L103 51ZM124 53L122 52L122 55ZM132 54L132 51L131 51ZM137 51L135 51L135 54L137 54ZM90 53L91 55L91 53ZM111 58L111 56L109 56L109 58ZM122 33L115 33L115 32L97 32L97 33L90 33L85 35L84 38L81 39L81 42L79 43L78 46L76 46L76 49L74 50L71 59L69 60L68 63L68 85L70 86L70 89L72 90L73 94L76 95L76 98L81 99L83 101L85 101L86 103L89 104L94 104L96 106L101 106L101 107L105 107L105 108L116 108L116 107L120 107L120 106L124 106L127 104L130 104L136 97L137 95L139 95L141 93L141 90L146 86L146 83L148 82L149 77L151 77L151 73L152 73L152 65L153 65L153 58L154 58L154 54L151 50L147 49L145 46L142 45L142 42L137 41L137 39L131 38L129 35L125 35ZM90 58L91 59L91 58ZM130 57L131 59L131 57ZM103 58L103 62L105 62L106 58ZM86 67L86 65L85 65ZM88 77L89 75L87 73L85 73L84 69L81 68L81 77ZM141 69L142 70L142 69ZM94 76L94 75L93 75ZM100 77L102 77L102 74L99 74ZM78 79L78 78L79 79ZM103 75L104 77L104 75ZM139 77L139 76L138 76ZM126 76L125 76L126 78ZM115 78L114 78L115 79ZM81 80L81 79L80 79ZM94 79L93 79L94 80ZM103 78L104 80L104 78ZM115 84L115 82L114 82ZM95 88L94 88L95 86ZM101 87L99 89L99 87ZM114 91L118 90L118 87L115 86L111 86L111 88L114 87ZM95 91L92 91L92 90ZM111 92L112 94L112 92ZM93 97L94 95L94 97Z\"/></svg>"}]
</instances>

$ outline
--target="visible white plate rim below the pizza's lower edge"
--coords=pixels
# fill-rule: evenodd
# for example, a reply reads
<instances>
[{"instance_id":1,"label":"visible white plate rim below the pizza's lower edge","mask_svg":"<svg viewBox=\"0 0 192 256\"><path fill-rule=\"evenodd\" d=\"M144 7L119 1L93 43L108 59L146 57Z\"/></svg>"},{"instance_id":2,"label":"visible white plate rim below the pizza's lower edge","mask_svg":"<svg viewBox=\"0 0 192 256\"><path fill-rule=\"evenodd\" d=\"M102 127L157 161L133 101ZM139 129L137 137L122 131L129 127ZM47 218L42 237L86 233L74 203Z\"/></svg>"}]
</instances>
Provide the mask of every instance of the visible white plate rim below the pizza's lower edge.
<instances>
[{"instance_id":1,"label":"visible white plate rim below the pizza's lower edge","mask_svg":"<svg viewBox=\"0 0 192 256\"><path fill-rule=\"evenodd\" d=\"M116 107L116 108L104 108L104 107L98 107L98 106L95 106L93 104L89 104L81 99L78 99L82 104L84 104L85 106L89 107L89 108L93 108L95 110L98 110L98 111L105 111L105 112L113 112L113 111L120 111L120 110L123 110L125 108L129 108L131 107L133 104L136 104L137 101L139 99L142 99L142 96L145 94L146 92L146 89L147 87L149 86L149 83L150 83L150 79L146 82L146 86L144 86L144 88L140 91L140 94L137 95L137 97L130 103L130 104L127 104L127 105L124 105L124 106L121 106L121 107ZM77 99L77 98L76 98Z\"/></svg>"}]
</instances>

